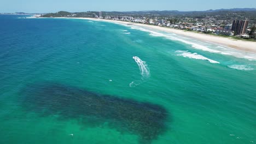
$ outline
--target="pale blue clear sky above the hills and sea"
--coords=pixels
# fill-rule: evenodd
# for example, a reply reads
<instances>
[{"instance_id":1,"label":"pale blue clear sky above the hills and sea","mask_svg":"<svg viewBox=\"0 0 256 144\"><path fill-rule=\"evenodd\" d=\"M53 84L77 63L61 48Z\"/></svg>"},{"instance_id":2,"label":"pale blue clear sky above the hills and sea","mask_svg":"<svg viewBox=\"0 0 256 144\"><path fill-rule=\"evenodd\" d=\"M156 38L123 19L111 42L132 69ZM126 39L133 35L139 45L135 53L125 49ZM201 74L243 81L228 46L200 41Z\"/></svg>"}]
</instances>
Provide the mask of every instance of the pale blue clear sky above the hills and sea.
<instances>
[{"instance_id":1,"label":"pale blue clear sky above the hills and sea","mask_svg":"<svg viewBox=\"0 0 256 144\"><path fill-rule=\"evenodd\" d=\"M256 0L1 0L0 13L65 11L208 10L256 8Z\"/></svg>"}]
</instances>

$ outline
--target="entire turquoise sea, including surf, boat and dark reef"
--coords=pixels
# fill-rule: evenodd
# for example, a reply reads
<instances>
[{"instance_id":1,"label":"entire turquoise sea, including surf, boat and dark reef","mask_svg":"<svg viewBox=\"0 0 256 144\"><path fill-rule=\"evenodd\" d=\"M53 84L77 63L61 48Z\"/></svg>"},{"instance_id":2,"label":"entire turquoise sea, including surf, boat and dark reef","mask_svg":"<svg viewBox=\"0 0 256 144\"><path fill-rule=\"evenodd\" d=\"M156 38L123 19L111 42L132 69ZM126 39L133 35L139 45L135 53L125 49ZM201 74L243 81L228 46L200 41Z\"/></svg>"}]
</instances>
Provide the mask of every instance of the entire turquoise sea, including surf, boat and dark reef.
<instances>
[{"instance_id":1,"label":"entire turquoise sea, including surf, boat and dark reef","mask_svg":"<svg viewBox=\"0 0 256 144\"><path fill-rule=\"evenodd\" d=\"M256 55L136 26L0 15L0 143L256 142Z\"/></svg>"}]
</instances>

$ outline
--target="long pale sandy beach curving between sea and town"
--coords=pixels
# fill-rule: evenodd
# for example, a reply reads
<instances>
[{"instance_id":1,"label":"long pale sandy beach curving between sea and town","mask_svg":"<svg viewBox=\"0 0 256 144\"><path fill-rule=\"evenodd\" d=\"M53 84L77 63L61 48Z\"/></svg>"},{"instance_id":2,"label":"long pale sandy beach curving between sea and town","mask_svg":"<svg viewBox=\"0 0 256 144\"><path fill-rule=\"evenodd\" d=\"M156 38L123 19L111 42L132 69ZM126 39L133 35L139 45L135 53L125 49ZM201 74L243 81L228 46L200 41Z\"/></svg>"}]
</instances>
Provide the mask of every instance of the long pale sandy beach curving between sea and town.
<instances>
[{"instance_id":1,"label":"long pale sandy beach curving between sea and town","mask_svg":"<svg viewBox=\"0 0 256 144\"><path fill-rule=\"evenodd\" d=\"M236 40L236 39L231 39L231 38L218 37L217 35L182 31L180 29L153 26L153 25L145 25L145 24L142 24L142 23L134 23L134 22L127 22L127 21L94 19L94 18L88 18L88 17L59 17L59 18L104 21L104 22L119 23L121 25L127 25L129 23L130 24L132 23L133 26L147 27L147 28L150 28L150 29L154 29L156 31L174 33L174 34L180 35L182 37L196 39L196 40L203 41L203 42L206 42L206 43L214 43L214 44L222 45L222 46L225 46L225 47L228 47L228 48L231 48L231 49L235 49L235 50L238 50L238 51L254 53L254 54L256 53L256 43L253 42L253 41Z\"/></svg>"}]
</instances>

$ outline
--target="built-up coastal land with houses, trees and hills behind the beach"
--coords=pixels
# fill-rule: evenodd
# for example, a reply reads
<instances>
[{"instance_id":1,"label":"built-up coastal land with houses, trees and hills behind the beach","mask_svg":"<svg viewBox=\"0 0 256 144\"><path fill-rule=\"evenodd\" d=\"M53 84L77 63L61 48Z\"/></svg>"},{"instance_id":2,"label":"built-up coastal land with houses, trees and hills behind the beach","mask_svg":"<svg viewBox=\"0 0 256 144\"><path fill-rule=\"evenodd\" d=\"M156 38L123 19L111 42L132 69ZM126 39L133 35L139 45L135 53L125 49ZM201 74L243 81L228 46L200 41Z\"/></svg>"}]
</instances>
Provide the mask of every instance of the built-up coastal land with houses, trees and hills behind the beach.
<instances>
[{"instance_id":1,"label":"built-up coastal land with houses, trees and hills behind the beach","mask_svg":"<svg viewBox=\"0 0 256 144\"><path fill-rule=\"evenodd\" d=\"M49 13L42 17L99 17L98 11L86 11L69 13L68 11L59 11L57 13ZM219 34L220 37L229 37L232 39L242 39L255 41L255 25L256 25L256 9L219 9L206 11L102 11L101 19L126 20L130 22L144 23L148 25L171 26L172 28L185 29L185 31L214 34L214 31L205 31L207 22L207 30L213 28L230 30L233 20L249 20L247 36L235 37ZM128 20L127 17L130 17ZM131 17L132 20L131 20ZM139 21L135 21L135 20ZM149 22L149 20L153 22ZM160 22L164 21L164 22ZM144 21L144 22L142 22ZM164 24L164 25L163 25ZM226 26L229 28L226 29ZM196 27L196 28L193 28ZM209 28L210 27L210 28ZM197 29L197 30L195 30ZM235 32L233 32L234 35ZM249 36L248 36L249 35Z\"/></svg>"}]
</instances>

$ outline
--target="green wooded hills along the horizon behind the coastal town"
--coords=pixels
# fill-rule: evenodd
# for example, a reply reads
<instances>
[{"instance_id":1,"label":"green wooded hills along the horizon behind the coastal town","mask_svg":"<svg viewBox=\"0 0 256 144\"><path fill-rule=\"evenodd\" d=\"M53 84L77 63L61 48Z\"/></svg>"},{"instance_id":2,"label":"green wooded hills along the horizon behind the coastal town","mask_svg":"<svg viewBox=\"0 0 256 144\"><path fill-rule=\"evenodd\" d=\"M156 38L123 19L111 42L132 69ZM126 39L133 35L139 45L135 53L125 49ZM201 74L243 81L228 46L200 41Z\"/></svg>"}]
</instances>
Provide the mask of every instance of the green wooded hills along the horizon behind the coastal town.
<instances>
[{"instance_id":1,"label":"green wooded hills along the horizon behind the coastal town","mask_svg":"<svg viewBox=\"0 0 256 144\"><path fill-rule=\"evenodd\" d=\"M57 13L45 14L43 17L94 17L98 11L86 11L79 13L69 13L67 11L59 11ZM193 19L206 19L212 17L217 20L233 20L233 19L249 19L256 23L256 9L219 9L219 10L206 10L206 11L177 11L177 10L164 10L164 11L102 11L102 16L133 16L133 17L170 17L173 22L178 22L183 17Z\"/></svg>"}]
</instances>

